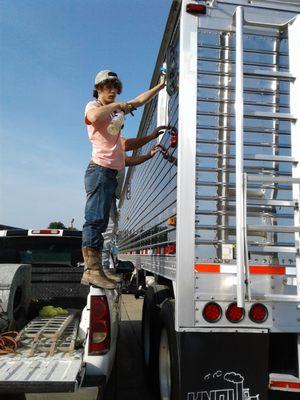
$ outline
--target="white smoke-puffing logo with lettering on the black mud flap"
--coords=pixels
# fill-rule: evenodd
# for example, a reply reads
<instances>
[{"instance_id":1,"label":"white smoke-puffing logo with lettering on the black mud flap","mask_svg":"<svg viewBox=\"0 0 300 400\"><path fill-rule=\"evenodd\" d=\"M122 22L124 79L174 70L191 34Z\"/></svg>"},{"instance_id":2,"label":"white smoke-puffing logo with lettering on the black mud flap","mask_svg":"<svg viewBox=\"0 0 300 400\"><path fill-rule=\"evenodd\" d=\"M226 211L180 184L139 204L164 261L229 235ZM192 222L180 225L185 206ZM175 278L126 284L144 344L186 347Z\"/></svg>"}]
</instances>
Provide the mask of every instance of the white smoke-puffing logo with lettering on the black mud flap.
<instances>
[{"instance_id":1,"label":"white smoke-puffing logo with lettering on the black mud flap","mask_svg":"<svg viewBox=\"0 0 300 400\"><path fill-rule=\"evenodd\" d=\"M224 383L224 388L189 392L187 400L260 400L259 394L250 396L250 389L244 388L244 377L236 372L223 374L222 371L218 370L213 374L204 376L205 382L214 379L218 379L219 382L221 379Z\"/></svg>"}]
</instances>

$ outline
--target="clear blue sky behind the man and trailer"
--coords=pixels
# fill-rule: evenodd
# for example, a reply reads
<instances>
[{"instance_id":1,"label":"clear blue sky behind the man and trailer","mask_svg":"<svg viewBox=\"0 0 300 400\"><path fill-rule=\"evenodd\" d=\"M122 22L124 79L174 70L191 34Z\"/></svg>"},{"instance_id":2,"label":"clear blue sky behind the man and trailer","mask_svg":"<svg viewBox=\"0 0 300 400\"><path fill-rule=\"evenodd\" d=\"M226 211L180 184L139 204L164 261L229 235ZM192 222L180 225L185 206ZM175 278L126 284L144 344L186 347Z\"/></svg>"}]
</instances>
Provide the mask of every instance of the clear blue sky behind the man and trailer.
<instances>
[{"instance_id":1,"label":"clear blue sky behind the man and trailer","mask_svg":"<svg viewBox=\"0 0 300 400\"><path fill-rule=\"evenodd\" d=\"M93 80L148 89L172 0L0 0L0 224L81 229ZM128 117L136 135L142 109Z\"/></svg>"}]
</instances>

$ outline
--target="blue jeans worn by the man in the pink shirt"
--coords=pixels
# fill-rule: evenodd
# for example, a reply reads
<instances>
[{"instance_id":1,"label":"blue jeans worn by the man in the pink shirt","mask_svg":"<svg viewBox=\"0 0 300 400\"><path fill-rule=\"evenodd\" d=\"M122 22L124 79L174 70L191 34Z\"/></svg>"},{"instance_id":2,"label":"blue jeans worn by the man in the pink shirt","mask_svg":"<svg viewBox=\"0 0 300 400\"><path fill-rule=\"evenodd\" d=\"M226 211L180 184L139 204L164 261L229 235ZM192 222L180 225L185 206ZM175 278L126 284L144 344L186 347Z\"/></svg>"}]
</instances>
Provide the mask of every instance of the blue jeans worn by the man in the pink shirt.
<instances>
[{"instance_id":1,"label":"blue jeans worn by the man in the pink shirt","mask_svg":"<svg viewBox=\"0 0 300 400\"><path fill-rule=\"evenodd\" d=\"M113 195L117 187L118 171L90 163L85 172L87 194L85 223L82 229L82 246L102 250Z\"/></svg>"}]
</instances>

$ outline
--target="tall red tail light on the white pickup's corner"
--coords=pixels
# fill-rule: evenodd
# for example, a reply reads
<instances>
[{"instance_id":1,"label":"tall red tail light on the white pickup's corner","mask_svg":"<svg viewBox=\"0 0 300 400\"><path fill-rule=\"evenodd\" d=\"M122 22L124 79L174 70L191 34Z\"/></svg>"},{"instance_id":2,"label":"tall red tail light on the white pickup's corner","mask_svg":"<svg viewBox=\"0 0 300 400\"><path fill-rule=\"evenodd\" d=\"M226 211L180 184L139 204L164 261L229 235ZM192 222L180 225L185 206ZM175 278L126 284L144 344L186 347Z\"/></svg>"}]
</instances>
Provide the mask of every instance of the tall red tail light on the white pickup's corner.
<instances>
[{"instance_id":1,"label":"tall red tail light on the white pickup's corner","mask_svg":"<svg viewBox=\"0 0 300 400\"><path fill-rule=\"evenodd\" d=\"M91 296L89 355L104 354L110 348L110 316L106 296Z\"/></svg>"}]
</instances>

